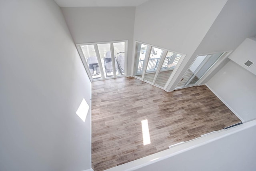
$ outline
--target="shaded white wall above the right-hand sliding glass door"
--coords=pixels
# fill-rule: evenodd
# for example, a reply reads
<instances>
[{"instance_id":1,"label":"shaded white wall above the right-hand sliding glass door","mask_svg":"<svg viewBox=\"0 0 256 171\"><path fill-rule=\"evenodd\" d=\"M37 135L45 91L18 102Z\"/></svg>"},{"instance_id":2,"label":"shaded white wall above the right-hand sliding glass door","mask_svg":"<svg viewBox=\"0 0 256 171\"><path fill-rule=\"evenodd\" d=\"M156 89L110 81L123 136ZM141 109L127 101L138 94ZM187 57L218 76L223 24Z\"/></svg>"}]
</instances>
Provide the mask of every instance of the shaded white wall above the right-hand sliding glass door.
<instances>
[{"instance_id":1,"label":"shaded white wall above the right-hand sliding glass door","mask_svg":"<svg viewBox=\"0 0 256 171\"><path fill-rule=\"evenodd\" d=\"M247 37L255 37L255 8L255 0L228 0L192 58L201 54L235 50ZM217 68L204 83L208 82L221 67ZM186 68L189 68L189 65ZM183 74L179 78L182 78Z\"/></svg>"}]
</instances>

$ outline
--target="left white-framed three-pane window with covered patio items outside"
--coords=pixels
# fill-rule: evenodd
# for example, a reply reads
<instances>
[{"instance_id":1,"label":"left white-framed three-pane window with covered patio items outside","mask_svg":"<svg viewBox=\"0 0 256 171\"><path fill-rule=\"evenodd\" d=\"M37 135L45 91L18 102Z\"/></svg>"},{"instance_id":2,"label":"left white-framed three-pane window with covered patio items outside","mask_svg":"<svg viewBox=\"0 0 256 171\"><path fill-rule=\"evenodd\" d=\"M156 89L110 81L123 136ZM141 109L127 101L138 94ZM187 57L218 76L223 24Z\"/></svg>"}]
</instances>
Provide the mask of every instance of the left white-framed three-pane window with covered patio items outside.
<instances>
[{"instance_id":1,"label":"left white-framed three-pane window with covered patio items outside","mask_svg":"<svg viewBox=\"0 0 256 171\"><path fill-rule=\"evenodd\" d=\"M77 44L91 81L126 75L127 41Z\"/></svg>"}]
</instances>

